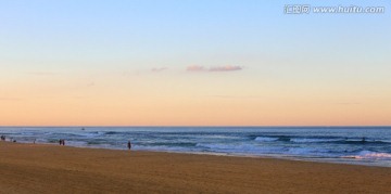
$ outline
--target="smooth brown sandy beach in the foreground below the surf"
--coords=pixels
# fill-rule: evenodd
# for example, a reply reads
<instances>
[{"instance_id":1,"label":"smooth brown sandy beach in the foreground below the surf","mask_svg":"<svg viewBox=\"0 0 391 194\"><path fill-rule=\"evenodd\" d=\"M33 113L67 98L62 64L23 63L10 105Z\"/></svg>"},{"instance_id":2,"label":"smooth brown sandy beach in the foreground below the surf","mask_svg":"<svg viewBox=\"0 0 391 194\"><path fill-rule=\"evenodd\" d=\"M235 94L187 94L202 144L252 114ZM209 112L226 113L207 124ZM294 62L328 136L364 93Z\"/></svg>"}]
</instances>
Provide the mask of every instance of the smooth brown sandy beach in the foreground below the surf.
<instances>
[{"instance_id":1,"label":"smooth brown sandy beach in the foreground below the surf","mask_svg":"<svg viewBox=\"0 0 391 194\"><path fill-rule=\"evenodd\" d=\"M391 168L0 142L0 193L391 193Z\"/></svg>"}]
</instances>

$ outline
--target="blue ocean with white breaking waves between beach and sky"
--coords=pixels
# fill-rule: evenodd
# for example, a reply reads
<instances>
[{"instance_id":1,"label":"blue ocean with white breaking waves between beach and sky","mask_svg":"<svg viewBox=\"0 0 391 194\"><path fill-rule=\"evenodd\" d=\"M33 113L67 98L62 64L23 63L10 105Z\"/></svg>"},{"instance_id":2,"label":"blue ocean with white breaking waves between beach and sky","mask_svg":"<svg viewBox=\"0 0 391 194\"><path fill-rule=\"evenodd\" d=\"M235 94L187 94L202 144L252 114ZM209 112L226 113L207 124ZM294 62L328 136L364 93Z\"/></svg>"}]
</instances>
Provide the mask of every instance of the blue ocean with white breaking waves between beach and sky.
<instances>
[{"instance_id":1,"label":"blue ocean with white breaking waves between beach and sky","mask_svg":"<svg viewBox=\"0 0 391 194\"><path fill-rule=\"evenodd\" d=\"M0 127L7 141L391 167L391 127Z\"/></svg>"}]
</instances>

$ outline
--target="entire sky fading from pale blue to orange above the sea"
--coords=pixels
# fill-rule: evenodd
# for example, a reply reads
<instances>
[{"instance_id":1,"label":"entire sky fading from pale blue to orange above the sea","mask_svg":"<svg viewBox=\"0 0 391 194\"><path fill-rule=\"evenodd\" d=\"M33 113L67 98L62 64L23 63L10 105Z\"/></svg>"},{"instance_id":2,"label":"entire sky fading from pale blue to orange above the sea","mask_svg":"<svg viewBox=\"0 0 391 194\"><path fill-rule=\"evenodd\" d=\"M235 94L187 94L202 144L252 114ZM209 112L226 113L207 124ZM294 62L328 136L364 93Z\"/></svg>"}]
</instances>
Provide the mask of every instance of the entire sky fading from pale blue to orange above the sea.
<instances>
[{"instance_id":1,"label":"entire sky fading from pale blue to orange above the sea","mask_svg":"<svg viewBox=\"0 0 391 194\"><path fill-rule=\"evenodd\" d=\"M0 126L388 126L390 11L0 0Z\"/></svg>"}]
</instances>

